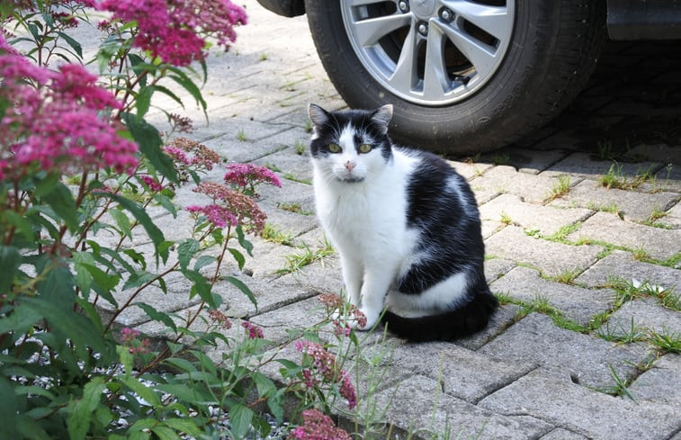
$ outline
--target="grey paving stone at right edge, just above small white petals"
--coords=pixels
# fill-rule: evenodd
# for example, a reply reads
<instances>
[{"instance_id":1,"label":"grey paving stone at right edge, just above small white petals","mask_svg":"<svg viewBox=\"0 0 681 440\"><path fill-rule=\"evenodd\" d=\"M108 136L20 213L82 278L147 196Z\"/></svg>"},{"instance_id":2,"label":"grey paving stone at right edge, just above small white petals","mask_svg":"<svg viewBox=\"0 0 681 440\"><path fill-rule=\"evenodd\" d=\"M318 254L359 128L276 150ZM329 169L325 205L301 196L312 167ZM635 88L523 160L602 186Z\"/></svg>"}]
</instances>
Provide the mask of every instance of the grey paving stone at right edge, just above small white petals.
<instances>
[{"instance_id":1,"label":"grey paving stone at right edge, just above small white petals","mask_svg":"<svg viewBox=\"0 0 681 440\"><path fill-rule=\"evenodd\" d=\"M613 251L609 256L600 259L586 272L580 274L575 283L588 287L605 286L614 280L631 283L649 282L665 289L681 289L681 271L662 265L651 265L633 259L632 254L621 250Z\"/></svg>"}]
</instances>

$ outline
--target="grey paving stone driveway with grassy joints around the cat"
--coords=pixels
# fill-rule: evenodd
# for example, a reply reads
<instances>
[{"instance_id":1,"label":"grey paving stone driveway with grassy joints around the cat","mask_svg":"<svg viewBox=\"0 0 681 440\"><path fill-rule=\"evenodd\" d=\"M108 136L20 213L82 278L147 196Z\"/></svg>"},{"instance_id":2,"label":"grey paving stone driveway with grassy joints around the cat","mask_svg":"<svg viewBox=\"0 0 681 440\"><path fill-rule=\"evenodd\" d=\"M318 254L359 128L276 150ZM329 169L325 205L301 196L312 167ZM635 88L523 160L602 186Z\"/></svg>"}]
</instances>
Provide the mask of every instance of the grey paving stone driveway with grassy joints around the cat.
<instances>
[{"instance_id":1,"label":"grey paving stone driveway with grassy joints around the cat","mask_svg":"<svg viewBox=\"0 0 681 440\"><path fill-rule=\"evenodd\" d=\"M301 247L324 247L305 108L345 103L318 61L305 17L284 19L246 3L250 23L228 54L211 59L203 89L210 124L198 110L189 113L199 126L195 139L282 177L282 189L263 189L261 204L290 240L255 239L255 257L237 274L258 310L236 289L217 292L230 314L283 339L286 328L318 319L318 293L342 285L333 255L293 274L275 271ZM617 43L551 125L513 147L453 157L478 198L488 281L504 305L488 329L461 341L388 339L388 379L374 400L390 403L385 422L393 432L681 439L681 355L673 353L681 337L679 146L681 43ZM190 202L195 194L179 197ZM160 310L195 306L168 298L144 300ZM141 312L120 319L155 331Z\"/></svg>"}]
</instances>

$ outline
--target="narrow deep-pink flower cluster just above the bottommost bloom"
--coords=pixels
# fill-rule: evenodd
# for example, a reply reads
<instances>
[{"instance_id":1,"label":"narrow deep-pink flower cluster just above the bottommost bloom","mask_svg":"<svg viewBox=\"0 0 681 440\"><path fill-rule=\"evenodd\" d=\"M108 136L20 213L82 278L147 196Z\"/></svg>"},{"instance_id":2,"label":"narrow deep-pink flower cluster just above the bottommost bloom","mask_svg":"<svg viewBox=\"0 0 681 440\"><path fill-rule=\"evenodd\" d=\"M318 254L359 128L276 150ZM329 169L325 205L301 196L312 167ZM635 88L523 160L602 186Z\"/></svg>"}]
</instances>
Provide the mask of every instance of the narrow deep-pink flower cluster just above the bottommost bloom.
<instances>
[{"instance_id":1,"label":"narrow deep-pink flower cluster just above the bottommost bloom","mask_svg":"<svg viewBox=\"0 0 681 440\"><path fill-rule=\"evenodd\" d=\"M357 394L354 391L353 382L350 381L349 375L336 365L336 356L330 353L324 346L308 340L297 341L295 346L300 353L309 356L312 361L312 367L318 373L321 380L340 384L340 395L347 400L347 406L353 409L357 404ZM306 386L311 388L318 384L318 381L313 377L313 372L309 369L304 369L302 374Z\"/></svg>"}]
</instances>

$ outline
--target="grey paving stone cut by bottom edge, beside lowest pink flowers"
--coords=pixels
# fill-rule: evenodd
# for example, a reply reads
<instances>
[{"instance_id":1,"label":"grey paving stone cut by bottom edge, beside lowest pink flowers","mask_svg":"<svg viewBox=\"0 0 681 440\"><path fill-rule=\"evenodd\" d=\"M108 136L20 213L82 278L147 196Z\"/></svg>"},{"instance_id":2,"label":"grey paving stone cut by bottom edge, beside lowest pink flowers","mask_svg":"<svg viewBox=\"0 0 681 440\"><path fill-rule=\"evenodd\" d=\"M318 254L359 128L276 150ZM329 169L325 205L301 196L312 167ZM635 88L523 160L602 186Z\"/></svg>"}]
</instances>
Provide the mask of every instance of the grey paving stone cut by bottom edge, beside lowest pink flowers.
<instances>
[{"instance_id":1,"label":"grey paving stone cut by bottom edge, beside lowest pink flowers","mask_svg":"<svg viewBox=\"0 0 681 440\"><path fill-rule=\"evenodd\" d=\"M409 396L409 399L395 399L395 395ZM479 409L442 393L437 381L420 375L411 376L399 383L397 390L377 393L374 401L377 409L389 408L385 424L393 425L398 432L415 428L414 430L444 433L449 427L453 438L459 436L502 440L537 438L553 429L550 424L537 418L499 416L487 409ZM422 433L411 438L421 440L431 436Z\"/></svg>"}]
</instances>

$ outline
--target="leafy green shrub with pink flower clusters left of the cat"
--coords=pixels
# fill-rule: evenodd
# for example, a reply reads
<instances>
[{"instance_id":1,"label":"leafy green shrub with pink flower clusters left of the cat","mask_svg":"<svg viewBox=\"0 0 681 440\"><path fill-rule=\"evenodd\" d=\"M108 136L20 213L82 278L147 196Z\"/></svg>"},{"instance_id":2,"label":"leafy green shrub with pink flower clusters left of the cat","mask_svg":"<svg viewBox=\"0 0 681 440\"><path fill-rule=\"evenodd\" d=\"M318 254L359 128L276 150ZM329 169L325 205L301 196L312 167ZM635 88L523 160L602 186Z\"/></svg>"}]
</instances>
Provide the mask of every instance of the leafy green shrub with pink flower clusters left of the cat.
<instances>
[{"instance_id":1,"label":"leafy green shrub with pink flower clusters left of the cat","mask_svg":"<svg viewBox=\"0 0 681 440\"><path fill-rule=\"evenodd\" d=\"M97 12L106 13L103 40L85 60L67 31ZM166 112L163 136L145 121L154 94L182 103L163 79L205 110L197 72L205 76L210 40L223 49L234 41L243 9L229 0L15 0L0 4L0 23L0 436L199 438L228 417L225 435L243 438L269 430L255 407L281 421L287 394L301 398L298 411L329 409L336 397L353 408L343 363L314 337L328 319L305 331L294 364L264 355L273 342L250 321L228 337L233 319L213 293L232 283L257 306L221 268L225 256L243 268L246 235L264 229L256 186L280 186L277 176L229 165L223 182L202 182L224 158L175 136L191 121ZM206 202L175 205L184 184ZM187 211L189 238L166 237L152 209ZM130 242L151 243L152 255ZM141 300L150 288L166 292L170 275L201 299L182 317ZM121 328L130 308L166 328L167 340ZM329 334L356 344L346 330ZM203 349L219 343L228 351L215 362ZM273 362L283 365L279 386L259 373ZM296 438L335 432L317 412L303 418Z\"/></svg>"}]
</instances>

